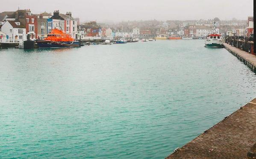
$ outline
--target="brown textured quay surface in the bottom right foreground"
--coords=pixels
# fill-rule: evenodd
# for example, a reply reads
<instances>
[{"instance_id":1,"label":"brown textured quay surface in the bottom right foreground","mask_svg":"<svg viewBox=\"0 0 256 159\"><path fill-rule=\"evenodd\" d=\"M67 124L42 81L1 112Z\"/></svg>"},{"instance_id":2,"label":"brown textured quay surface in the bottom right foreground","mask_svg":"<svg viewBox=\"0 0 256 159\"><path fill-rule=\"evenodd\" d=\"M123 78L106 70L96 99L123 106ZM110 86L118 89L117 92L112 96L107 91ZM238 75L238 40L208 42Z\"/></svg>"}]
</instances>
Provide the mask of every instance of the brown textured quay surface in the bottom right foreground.
<instances>
[{"instance_id":1,"label":"brown textured quay surface in the bottom right foreground","mask_svg":"<svg viewBox=\"0 0 256 159\"><path fill-rule=\"evenodd\" d=\"M246 159L256 143L256 98L166 159Z\"/></svg>"}]
</instances>

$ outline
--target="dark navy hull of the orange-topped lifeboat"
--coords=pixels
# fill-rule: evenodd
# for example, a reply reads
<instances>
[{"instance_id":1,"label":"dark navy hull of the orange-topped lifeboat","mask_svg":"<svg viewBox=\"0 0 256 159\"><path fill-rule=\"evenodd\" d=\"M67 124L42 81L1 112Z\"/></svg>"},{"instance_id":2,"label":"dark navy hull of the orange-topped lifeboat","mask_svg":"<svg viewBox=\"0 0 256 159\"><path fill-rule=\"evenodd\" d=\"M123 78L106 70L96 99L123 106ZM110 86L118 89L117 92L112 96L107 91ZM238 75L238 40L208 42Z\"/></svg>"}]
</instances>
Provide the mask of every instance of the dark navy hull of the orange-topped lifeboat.
<instances>
[{"instance_id":1,"label":"dark navy hull of the orange-topped lifeboat","mask_svg":"<svg viewBox=\"0 0 256 159\"><path fill-rule=\"evenodd\" d=\"M61 48L61 47L79 47L80 42L57 42L49 40L38 40L36 41L38 48Z\"/></svg>"}]
</instances>

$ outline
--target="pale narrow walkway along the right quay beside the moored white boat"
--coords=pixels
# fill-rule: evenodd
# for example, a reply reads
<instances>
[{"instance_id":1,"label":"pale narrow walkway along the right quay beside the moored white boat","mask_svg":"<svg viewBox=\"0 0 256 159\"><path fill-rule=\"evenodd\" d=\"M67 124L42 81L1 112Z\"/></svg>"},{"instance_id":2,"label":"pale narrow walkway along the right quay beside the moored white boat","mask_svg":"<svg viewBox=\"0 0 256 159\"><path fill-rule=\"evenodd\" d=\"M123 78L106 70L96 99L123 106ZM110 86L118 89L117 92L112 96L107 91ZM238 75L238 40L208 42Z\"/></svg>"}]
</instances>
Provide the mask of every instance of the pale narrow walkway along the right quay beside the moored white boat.
<instances>
[{"instance_id":1,"label":"pale narrow walkway along the right quay beside the moored white boat","mask_svg":"<svg viewBox=\"0 0 256 159\"><path fill-rule=\"evenodd\" d=\"M254 72L256 72L256 55L245 52L227 43L224 43L225 48L236 56L240 61L244 62L245 65L250 67Z\"/></svg>"}]
</instances>

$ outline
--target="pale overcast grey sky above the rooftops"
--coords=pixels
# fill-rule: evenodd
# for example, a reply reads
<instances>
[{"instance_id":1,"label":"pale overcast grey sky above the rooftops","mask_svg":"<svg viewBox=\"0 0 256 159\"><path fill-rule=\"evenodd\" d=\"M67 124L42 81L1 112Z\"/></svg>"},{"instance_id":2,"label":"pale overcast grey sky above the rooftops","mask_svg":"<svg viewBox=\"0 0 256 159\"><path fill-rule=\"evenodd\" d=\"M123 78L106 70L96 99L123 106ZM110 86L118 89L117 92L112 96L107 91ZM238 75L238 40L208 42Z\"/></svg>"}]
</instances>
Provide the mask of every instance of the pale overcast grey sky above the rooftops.
<instances>
[{"instance_id":1,"label":"pale overcast grey sky above the rooftops","mask_svg":"<svg viewBox=\"0 0 256 159\"><path fill-rule=\"evenodd\" d=\"M72 12L80 21L199 20L253 16L253 0L1 0L0 12Z\"/></svg>"}]
</instances>

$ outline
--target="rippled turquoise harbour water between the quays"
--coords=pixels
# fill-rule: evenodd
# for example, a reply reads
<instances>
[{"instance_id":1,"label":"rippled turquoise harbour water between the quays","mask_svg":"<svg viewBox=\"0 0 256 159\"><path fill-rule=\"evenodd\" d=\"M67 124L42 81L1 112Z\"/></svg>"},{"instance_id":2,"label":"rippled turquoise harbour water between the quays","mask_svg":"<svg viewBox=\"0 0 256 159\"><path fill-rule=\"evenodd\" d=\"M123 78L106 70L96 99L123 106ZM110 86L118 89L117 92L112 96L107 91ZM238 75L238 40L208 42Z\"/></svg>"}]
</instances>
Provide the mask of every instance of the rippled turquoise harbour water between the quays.
<instances>
[{"instance_id":1,"label":"rippled turquoise harbour water between the quays","mask_svg":"<svg viewBox=\"0 0 256 159\"><path fill-rule=\"evenodd\" d=\"M203 40L0 51L0 158L161 159L256 97Z\"/></svg>"}]
</instances>

